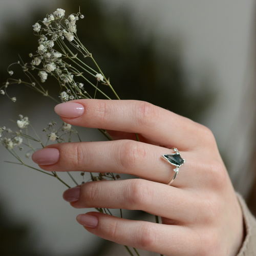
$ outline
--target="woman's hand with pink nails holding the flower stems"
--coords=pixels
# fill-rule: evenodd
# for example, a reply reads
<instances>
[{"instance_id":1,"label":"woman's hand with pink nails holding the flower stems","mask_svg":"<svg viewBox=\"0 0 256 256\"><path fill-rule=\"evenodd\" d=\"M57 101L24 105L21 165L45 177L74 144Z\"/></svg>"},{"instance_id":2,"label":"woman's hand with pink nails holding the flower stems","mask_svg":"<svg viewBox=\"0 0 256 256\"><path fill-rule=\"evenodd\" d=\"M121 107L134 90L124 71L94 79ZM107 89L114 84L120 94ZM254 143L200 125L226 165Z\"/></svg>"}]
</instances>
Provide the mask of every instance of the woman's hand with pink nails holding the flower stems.
<instances>
[{"instance_id":1,"label":"woman's hand with pink nails holding the flower stems","mask_svg":"<svg viewBox=\"0 0 256 256\"><path fill-rule=\"evenodd\" d=\"M87 182L66 190L64 199L75 208L143 210L162 218L157 224L99 212L78 215L89 232L164 255L237 255L243 242L242 212L209 129L135 100L74 100L55 111L72 125L109 130L114 141L49 145L32 157L42 169L141 178ZM161 156L173 154L172 147L186 162L172 185L166 185L174 166Z\"/></svg>"}]
</instances>

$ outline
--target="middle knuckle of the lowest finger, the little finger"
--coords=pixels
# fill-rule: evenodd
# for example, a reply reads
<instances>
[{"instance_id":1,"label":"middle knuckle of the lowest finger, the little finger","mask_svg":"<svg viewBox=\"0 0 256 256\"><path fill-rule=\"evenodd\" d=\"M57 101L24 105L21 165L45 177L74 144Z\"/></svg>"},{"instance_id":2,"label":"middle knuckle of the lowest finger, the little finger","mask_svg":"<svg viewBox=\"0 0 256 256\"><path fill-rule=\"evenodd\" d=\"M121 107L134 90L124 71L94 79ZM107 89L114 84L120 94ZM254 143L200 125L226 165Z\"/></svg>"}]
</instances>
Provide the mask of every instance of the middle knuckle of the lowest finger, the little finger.
<instances>
[{"instance_id":1,"label":"middle knuckle of the lowest finger, the little finger","mask_svg":"<svg viewBox=\"0 0 256 256\"><path fill-rule=\"evenodd\" d=\"M151 223L145 222L142 224L140 229L140 244L142 249L154 248L159 232L157 228Z\"/></svg>"}]
</instances>

